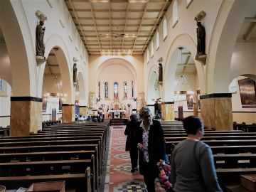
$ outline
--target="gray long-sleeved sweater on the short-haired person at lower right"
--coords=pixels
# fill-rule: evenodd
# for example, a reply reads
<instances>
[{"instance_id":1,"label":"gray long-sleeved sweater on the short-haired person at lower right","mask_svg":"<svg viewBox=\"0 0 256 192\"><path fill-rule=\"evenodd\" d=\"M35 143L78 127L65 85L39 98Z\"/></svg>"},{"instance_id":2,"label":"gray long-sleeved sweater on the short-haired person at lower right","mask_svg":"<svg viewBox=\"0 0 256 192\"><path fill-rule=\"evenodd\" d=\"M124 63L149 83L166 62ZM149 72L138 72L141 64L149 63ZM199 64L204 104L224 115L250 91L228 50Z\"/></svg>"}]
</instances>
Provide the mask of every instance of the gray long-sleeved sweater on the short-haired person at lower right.
<instances>
[{"instance_id":1,"label":"gray long-sleeved sweater on the short-haired person at lower right","mask_svg":"<svg viewBox=\"0 0 256 192\"><path fill-rule=\"evenodd\" d=\"M171 183L176 192L222 191L210 147L190 139L179 143L171 155Z\"/></svg>"}]
</instances>

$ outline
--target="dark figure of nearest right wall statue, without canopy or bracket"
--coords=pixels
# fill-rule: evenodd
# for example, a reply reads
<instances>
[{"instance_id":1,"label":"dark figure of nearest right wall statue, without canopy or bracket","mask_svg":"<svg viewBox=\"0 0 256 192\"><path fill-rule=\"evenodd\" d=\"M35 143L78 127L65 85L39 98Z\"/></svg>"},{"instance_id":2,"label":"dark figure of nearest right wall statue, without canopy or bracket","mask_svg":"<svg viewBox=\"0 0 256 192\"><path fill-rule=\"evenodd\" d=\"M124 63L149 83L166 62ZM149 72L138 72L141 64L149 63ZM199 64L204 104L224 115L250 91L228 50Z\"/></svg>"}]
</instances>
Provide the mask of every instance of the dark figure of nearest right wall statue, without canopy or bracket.
<instances>
[{"instance_id":1,"label":"dark figure of nearest right wall statue, without canopy or bracket","mask_svg":"<svg viewBox=\"0 0 256 192\"><path fill-rule=\"evenodd\" d=\"M200 21L197 21L197 55L206 55L206 30Z\"/></svg>"}]
</instances>

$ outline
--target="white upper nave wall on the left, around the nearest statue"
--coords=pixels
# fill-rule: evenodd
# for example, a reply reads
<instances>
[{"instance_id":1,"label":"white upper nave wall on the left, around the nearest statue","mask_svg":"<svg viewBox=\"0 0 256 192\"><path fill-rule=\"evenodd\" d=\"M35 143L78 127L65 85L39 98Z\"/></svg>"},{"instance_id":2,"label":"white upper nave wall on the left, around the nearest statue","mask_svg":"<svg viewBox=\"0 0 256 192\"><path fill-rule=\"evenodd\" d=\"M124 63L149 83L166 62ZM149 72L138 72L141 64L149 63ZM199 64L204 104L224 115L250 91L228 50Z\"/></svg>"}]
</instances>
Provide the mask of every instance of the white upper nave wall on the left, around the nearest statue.
<instances>
[{"instance_id":1,"label":"white upper nave wall on the left, around the nearest statue","mask_svg":"<svg viewBox=\"0 0 256 192\"><path fill-rule=\"evenodd\" d=\"M29 63L29 70L31 72L31 96L41 97L41 91L37 90L36 87L38 87L38 85L36 85L35 82L41 82L41 80L39 80L38 78L41 78L41 75L39 74L43 73L44 70L44 64L36 67L35 60L35 33L36 25L39 21L35 14L37 10L40 10L41 12L43 12L43 14L47 16L47 21L45 21L45 24L43 26L46 27L46 32L44 35L44 42L46 44L45 56L47 57L48 52L53 48L53 46L58 46L58 44L54 44L54 42L48 43L48 39L50 38L50 36L56 34L63 40L63 43L65 45L65 50L63 51L65 52L65 57L68 61L70 77L73 76L73 57L78 59L78 65L81 65L84 71L87 70L87 51L83 46L82 40L78 34L78 30L75 28L75 24L73 23L72 17L70 16L70 13L68 12L64 1L50 1L50 4L48 4L47 1L11 2L14 6L16 16L18 17L21 31L23 31L24 42L28 42L27 46L30 46L31 49L31 51L27 51L28 57L34 58L33 63ZM48 47L48 44L50 45L50 47Z\"/></svg>"}]
</instances>

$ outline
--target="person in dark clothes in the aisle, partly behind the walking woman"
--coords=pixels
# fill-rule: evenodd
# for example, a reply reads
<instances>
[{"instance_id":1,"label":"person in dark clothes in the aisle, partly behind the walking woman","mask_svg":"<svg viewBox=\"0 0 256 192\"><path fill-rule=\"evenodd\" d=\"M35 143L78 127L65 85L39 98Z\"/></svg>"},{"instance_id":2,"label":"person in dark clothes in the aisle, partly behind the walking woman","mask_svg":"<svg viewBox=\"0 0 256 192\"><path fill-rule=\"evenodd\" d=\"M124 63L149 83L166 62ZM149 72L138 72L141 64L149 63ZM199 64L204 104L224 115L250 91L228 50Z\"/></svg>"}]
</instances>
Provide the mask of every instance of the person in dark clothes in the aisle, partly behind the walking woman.
<instances>
[{"instance_id":1,"label":"person in dark clothes in the aisle, partly behind the walking woman","mask_svg":"<svg viewBox=\"0 0 256 192\"><path fill-rule=\"evenodd\" d=\"M131 120L127 123L127 127L124 134L127 135L127 141L125 144L125 151L129 151L132 163L131 172L134 173L138 166L138 148L136 137L136 125L139 122L137 114L131 114Z\"/></svg>"}]
</instances>

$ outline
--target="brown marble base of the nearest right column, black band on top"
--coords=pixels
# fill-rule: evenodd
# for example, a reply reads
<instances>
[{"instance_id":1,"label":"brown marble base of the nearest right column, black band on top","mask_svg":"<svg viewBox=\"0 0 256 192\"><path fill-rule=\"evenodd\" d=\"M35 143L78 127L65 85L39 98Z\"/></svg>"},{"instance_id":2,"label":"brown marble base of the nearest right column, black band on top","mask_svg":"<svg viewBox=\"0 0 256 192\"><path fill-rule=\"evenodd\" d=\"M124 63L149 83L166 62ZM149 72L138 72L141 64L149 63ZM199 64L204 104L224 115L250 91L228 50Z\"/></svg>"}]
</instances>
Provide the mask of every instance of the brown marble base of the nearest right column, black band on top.
<instances>
[{"instance_id":1,"label":"brown marble base of the nearest right column, black band on top","mask_svg":"<svg viewBox=\"0 0 256 192\"><path fill-rule=\"evenodd\" d=\"M203 124L216 130L232 130L231 93L212 93L200 96Z\"/></svg>"}]
</instances>

